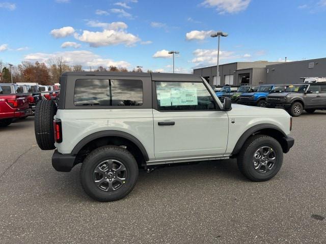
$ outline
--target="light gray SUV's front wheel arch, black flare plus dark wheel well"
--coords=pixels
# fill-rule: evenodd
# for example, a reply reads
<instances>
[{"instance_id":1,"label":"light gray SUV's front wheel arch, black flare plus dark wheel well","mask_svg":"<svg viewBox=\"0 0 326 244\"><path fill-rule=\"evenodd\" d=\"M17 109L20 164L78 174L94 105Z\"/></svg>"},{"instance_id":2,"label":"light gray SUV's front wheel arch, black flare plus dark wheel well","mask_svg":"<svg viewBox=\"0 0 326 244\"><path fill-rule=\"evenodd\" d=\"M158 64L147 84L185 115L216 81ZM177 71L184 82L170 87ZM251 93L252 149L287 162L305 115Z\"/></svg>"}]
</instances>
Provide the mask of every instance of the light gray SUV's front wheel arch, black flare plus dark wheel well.
<instances>
[{"instance_id":1,"label":"light gray SUV's front wheel arch, black flare plus dark wheel well","mask_svg":"<svg viewBox=\"0 0 326 244\"><path fill-rule=\"evenodd\" d=\"M234 146L232 151L232 156L236 156L239 154L243 144L253 135L262 134L273 137L276 139L282 146L283 152L287 151L287 144L285 138L287 135L276 125L273 124L261 124L256 125L245 131L240 138L238 139L237 143Z\"/></svg>"}]
</instances>

